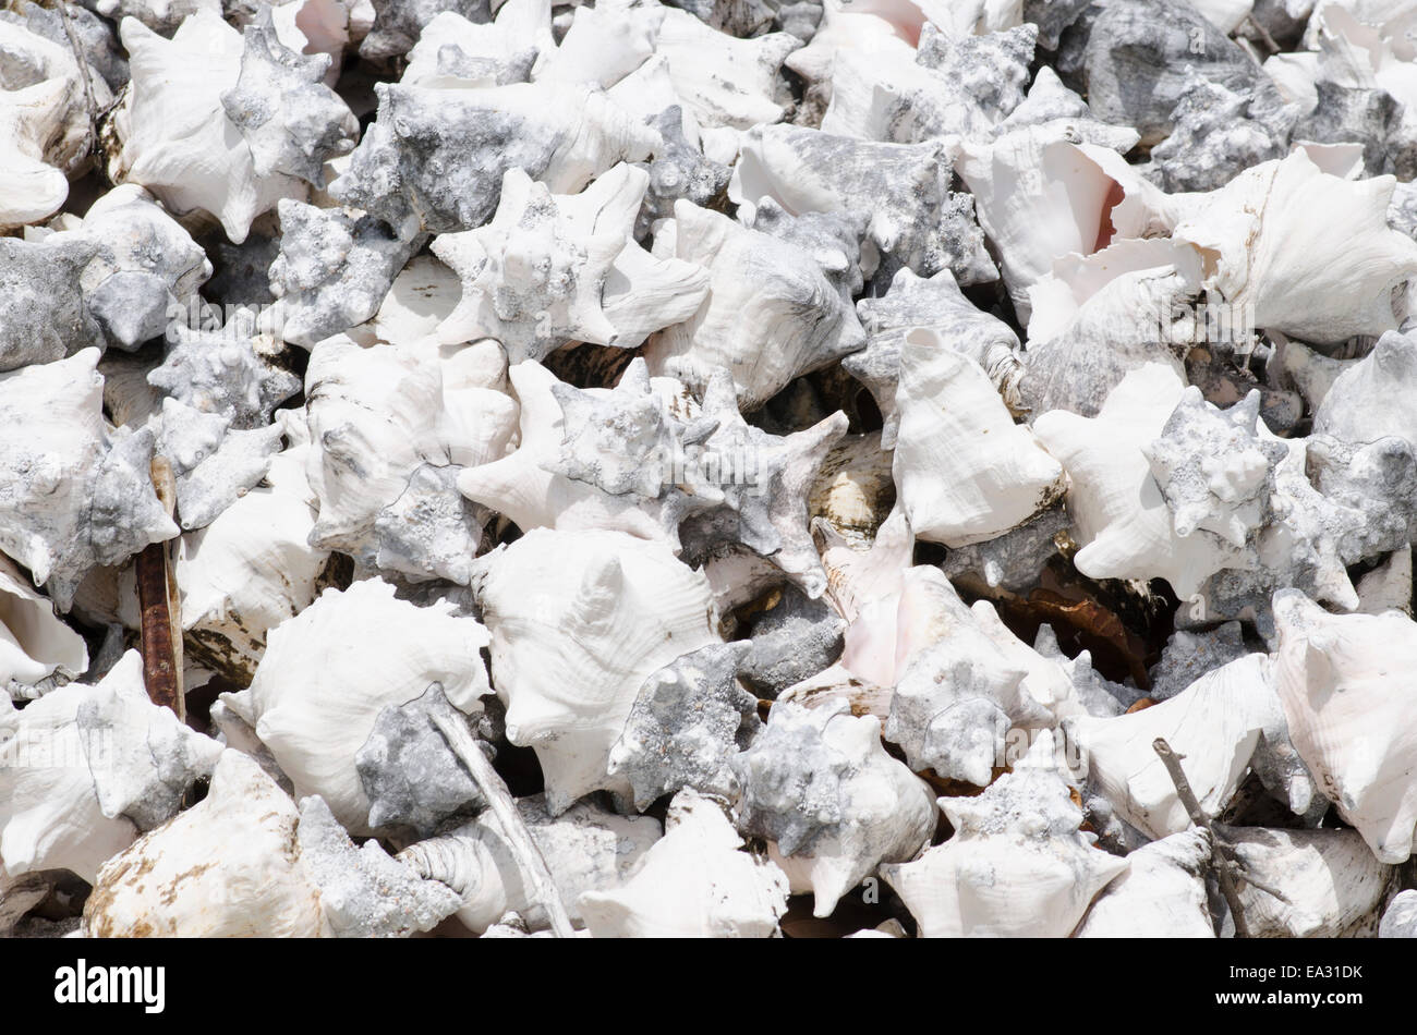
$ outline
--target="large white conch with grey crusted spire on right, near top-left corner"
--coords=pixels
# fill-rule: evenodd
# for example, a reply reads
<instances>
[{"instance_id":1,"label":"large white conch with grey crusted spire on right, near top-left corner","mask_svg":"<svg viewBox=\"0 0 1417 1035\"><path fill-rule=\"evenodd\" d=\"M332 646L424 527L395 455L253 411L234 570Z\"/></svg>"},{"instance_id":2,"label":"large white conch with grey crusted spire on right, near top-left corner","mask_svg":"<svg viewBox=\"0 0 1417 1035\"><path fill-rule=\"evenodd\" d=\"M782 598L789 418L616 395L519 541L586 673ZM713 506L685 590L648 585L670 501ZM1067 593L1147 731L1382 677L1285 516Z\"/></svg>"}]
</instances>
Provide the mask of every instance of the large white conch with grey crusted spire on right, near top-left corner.
<instances>
[{"instance_id":1,"label":"large white conch with grey crusted spire on right, near top-left corner","mask_svg":"<svg viewBox=\"0 0 1417 1035\"><path fill-rule=\"evenodd\" d=\"M132 18L120 31L133 81L115 116L122 151L109 174L142 184L174 212L215 215L235 244L276 201L322 185L324 159L353 146L353 113L320 82L329 61L282 45L269 16L245 37L205 11L171 40ZM313 150L296 146L292 110L316 127Z\"/></svg>"}]
</instances>

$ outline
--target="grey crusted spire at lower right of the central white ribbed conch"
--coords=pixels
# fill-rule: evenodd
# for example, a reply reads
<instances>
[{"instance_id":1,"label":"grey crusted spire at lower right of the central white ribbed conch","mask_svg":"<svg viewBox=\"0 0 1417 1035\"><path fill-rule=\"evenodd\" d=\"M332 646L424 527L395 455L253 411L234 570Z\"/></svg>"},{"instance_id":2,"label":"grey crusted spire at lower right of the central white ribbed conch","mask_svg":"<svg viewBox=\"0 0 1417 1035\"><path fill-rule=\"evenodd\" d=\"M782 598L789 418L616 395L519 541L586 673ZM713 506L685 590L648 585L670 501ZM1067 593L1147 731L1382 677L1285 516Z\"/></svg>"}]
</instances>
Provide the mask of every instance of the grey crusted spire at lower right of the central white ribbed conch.
<instances>
[{"instance_id":1,"label":"grey crusted spire at lower right of the central white ribbed conch","mask_svg":"<svg viewBox=\"0 0 1417 1035\"><path fill-rule=\"evenodd\" d=\"M728 763L762 725L758 699L735 678L748 650L711 643L645 680L608 765L611 776L629 780L636 808L683 787L730 793Z\"/></svg>"}]
</instances>

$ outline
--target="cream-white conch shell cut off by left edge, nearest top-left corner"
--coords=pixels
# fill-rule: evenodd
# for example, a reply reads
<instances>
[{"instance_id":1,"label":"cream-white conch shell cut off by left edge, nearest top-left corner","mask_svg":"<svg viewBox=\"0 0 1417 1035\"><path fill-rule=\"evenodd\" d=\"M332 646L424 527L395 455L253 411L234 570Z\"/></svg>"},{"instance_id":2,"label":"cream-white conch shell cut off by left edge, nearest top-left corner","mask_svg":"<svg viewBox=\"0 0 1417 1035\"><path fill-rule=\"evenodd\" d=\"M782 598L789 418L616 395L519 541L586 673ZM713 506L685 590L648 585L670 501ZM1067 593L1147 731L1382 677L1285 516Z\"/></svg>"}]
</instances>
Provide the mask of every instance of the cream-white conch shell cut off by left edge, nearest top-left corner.
<instances>
[{"instance_id":1,"label":"cream-white conch shell cut off by left edge, nearest top-left corner","mask_svg":"<svg viewBox=\"0 0 1417 1035\"><path fill-rule=\"evenodd\" d=\"M68 40L45 40L13 21L0 21L0 229L38 222L68 197L68 173L88 159L92 129L84 79ZM89 71L94 102L113 101Z\"/></svg>"}]
</instances>

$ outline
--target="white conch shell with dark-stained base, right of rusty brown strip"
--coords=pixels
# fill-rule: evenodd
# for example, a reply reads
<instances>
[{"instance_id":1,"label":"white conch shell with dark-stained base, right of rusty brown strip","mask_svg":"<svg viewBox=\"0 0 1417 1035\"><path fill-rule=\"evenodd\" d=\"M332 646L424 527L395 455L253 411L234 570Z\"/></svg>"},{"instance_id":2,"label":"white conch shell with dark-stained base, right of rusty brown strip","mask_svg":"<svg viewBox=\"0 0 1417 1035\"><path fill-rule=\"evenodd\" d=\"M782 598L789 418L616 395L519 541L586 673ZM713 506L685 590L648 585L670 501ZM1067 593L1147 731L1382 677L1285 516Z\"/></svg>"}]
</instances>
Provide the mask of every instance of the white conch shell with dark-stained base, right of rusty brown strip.
<instances>
[{"instance_id":1,"label":"white conch shell with dark-stained base, right of rusty brown strip","mask_svg":"<svg viewBox=\"0 0 1417 1035\"><path fill-rule=\"evenodd\" d=\"M265 483L177 548L186 650L249 685L266 631L315 600L329 552L309 545L317 500L305 480L305 415L283 422L293 440L271 459Z\"/></svg>"}]
</instances>

